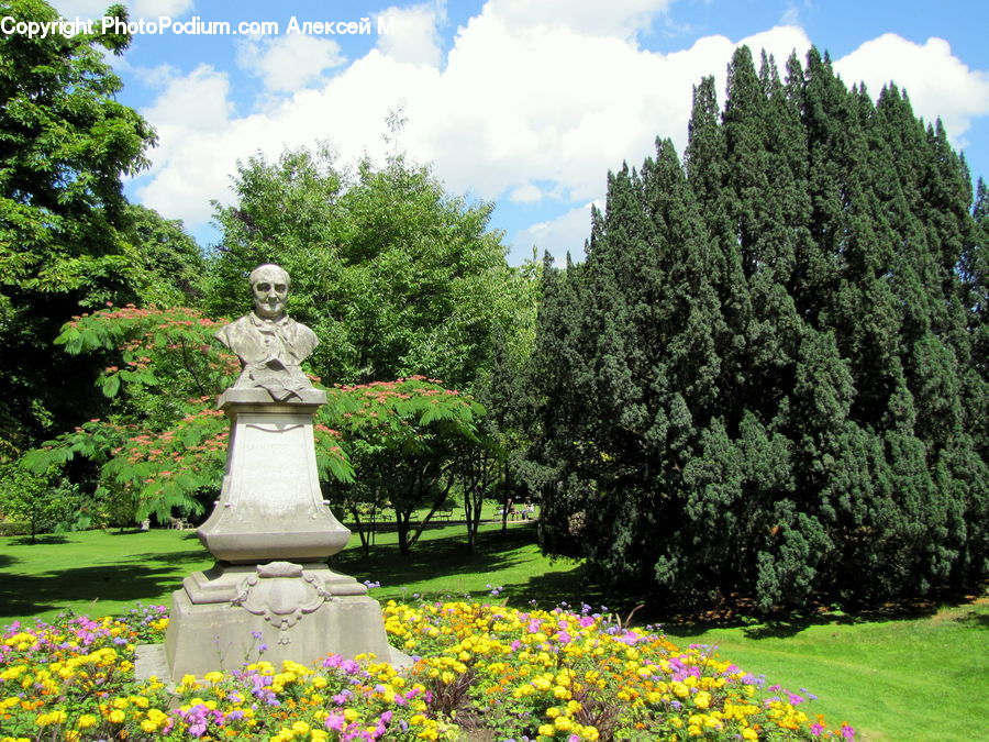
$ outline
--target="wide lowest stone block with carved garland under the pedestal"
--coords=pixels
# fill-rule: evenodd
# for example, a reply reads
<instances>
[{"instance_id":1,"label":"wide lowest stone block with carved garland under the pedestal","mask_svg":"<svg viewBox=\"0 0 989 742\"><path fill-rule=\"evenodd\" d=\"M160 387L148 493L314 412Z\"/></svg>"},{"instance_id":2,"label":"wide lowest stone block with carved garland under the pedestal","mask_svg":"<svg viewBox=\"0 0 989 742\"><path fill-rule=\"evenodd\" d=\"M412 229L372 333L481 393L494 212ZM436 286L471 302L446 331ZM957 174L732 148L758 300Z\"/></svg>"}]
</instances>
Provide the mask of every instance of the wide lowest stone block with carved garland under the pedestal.
<instances>
[{"instance_id":1,"label":"wide lowest stone block with carved garland under the pedestal","mask_svg":"<svg viewBox=\"0 0 989 742\"><path fill-rule=\"evenodd\" d=\"M216 565L173 594L165 636L169 675L203 676L266 660L311 665L330 653L392 656L378 601L323 564ZM405 657L407 658L407 657Z\"/></svg>"}]
</instances>

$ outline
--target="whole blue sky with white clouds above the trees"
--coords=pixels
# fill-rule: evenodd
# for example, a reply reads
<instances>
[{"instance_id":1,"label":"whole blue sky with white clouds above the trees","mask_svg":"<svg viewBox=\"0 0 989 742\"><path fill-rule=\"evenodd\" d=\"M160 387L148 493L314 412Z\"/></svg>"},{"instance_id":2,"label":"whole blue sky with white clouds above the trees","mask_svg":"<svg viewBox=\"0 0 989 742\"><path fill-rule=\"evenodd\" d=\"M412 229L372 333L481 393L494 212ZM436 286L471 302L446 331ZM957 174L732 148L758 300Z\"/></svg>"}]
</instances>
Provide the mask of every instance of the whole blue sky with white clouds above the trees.
<instances>
[{"instance_id":1,"label":"whole blue sky with white clouds above the trees","mask_svg":"<svg viewBox=\"0 0 989 742\"><path fill-rule=\"evenodd\" d=\"M59 0L66 16L108 0ZM682 149L691 86L724 89L732 49L777 59L827 49L847 84L894 80L941 117L974 176L989 180L989 3L915 0L136 0L133 19L275 22L278 33L144 33L113 64L120 100L158 130L153 167L127 184L208 245L237 159L330 142L342 165L400 144L451 192L493 201L510 261L582 255L589 204L609 169L641 164L655 137ZM391 34L378 33L389 19ZM370 18L369 34L288 33L291 19Z\"/></svg>"}]
</instances>

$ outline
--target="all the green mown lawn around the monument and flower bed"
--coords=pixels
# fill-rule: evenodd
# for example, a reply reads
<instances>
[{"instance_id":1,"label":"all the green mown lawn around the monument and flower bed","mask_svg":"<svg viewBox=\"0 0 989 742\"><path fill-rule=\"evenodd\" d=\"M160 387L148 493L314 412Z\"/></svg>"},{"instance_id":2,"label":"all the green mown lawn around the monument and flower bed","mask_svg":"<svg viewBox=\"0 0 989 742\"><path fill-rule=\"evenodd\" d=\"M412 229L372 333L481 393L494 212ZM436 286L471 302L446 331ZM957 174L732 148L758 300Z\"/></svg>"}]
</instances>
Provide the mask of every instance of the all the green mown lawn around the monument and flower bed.
<instances>
[{"instance_id":1,"label":"all the green mown lawn around the monument and flower bed","mask_svg":"<svg viewBox=\"0 0 989 742\"><path fill-rule=\"evenodd\" d=\"M170 602L182 577L212 563L192 532L90 531L0 539L0 625L52 618L65 608L89 614L120 613L137 601ZM589 594L581 569L551 562L535 545L532 524L482 527L480 549L468 554L464 527L430 528L412 554L401 556L393 532L377 535L369 554L356 535L333 567L380 582L379 600L413 595L484 597L501 586L516 607L543 608ZM666 624L680 644L700 643L738 666L819 699L807 707L831 726L848 721L864 740L974 740L989 728L989 601L977 600L910 618L860 620L827 614L797 623L749 622L729 628Z\"/></svg>"}]
</instances>

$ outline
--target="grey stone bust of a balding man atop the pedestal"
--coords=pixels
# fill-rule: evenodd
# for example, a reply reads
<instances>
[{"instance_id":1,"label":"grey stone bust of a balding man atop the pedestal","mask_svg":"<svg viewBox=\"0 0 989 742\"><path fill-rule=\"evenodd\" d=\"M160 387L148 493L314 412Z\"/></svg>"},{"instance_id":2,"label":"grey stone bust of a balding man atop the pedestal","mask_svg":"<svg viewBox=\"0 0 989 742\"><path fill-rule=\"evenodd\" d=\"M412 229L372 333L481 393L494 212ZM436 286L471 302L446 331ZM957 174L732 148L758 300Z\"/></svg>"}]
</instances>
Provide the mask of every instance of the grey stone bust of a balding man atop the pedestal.
<instances>
[{"instance_id":1,"label":"grey stone bust of a balding man atop the pedestal","mask_svg":"<svg viewBox=\"0 0 989 742\"><path fill-rule=\"evenodd\" d=\"M285 313L291 281L279 266L266 264L248 277L254 311L221 328L216 340L241 359L234 389L267 389L275 401L300 397L312 384L301 364L315 348L315 333Z\"/></svg>"}]
</instances>

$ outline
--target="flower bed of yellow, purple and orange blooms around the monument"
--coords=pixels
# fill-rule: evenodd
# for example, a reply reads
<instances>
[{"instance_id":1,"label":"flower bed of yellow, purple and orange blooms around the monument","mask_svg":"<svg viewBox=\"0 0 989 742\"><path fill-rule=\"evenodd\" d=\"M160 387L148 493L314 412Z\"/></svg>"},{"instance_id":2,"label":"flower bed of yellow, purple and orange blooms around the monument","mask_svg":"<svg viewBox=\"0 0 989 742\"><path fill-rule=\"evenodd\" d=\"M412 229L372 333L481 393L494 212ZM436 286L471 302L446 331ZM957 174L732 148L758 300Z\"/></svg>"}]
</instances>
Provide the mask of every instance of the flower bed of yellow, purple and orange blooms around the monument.
<instances>
[{"instance_id":1,"label":"flower bed of yellow, purple and orange blooms around the monument","mask_svg":"<svg viewBox=\"0 0 989 742\"><path fill-rule=\"evenodd\" d=\"M391 601L386 628L416 658L319 667L266 662L135 680L138 642L162 641L162 607L14 624L0 641L0 742L12 740L813 740L853 739L803 698L702 647L604 617L468 602Z\"/></svg>"}]
</instances>

